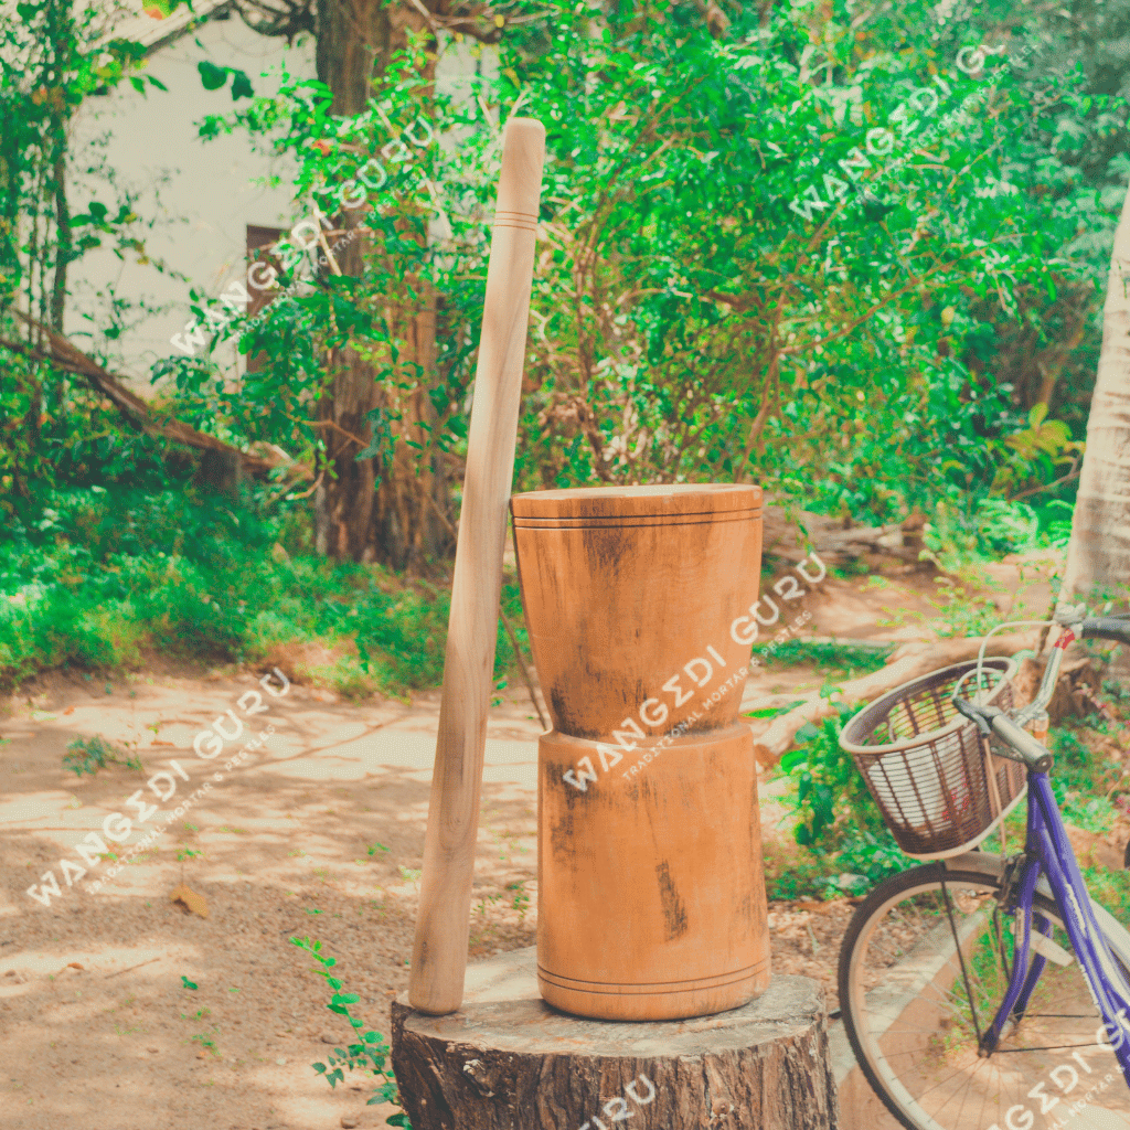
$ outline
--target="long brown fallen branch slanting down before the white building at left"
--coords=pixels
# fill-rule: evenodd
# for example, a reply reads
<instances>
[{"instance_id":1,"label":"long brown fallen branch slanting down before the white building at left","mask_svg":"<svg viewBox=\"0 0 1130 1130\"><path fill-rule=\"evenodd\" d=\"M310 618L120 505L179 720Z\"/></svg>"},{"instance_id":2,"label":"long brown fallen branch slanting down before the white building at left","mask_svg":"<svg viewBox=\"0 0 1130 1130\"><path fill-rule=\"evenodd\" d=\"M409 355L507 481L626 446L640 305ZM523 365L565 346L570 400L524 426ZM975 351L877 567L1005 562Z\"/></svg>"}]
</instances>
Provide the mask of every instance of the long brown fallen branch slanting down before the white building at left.
<instances>
[{"instance_id":1,"label":"long brown fallen branch slanting down before the white building at left","mask_svg":"<svg viewBox=\"0 0 1130 1130\"><path fill-rule=\"evenodd\" d=\"M236 457L243 470L247 475L257 478L268 478L270 472L279 467L294 467L293 461L288 462L284 453L279 452L272 459L262 459L240 451L231 444L217 440L215 436L205 435L188 424L182 424L177 419L160 420L154 416L153 409L137 393L130 392L122 382L112 373L106 372L93 357L88 357L81 349L72 345L61 333L55 332L50 327L37 322L34 318L21 313L18 310L10 311L21 322L32 327L47 344L47 350L36 349L34 346L23 341L12 341L10 338L0 337L0 346L11 349L14 353L34 357L37 360L45 360L50 364L81 376L96 392L101 392L125 419L145 435L165 440L173 443L183 444L186 447L195 447L198 451L223 451ZM297 464L301 466L301 464ZM302 467L299 478L310 478L311 472L306 467Z\"/></svg>"}]
</instances>

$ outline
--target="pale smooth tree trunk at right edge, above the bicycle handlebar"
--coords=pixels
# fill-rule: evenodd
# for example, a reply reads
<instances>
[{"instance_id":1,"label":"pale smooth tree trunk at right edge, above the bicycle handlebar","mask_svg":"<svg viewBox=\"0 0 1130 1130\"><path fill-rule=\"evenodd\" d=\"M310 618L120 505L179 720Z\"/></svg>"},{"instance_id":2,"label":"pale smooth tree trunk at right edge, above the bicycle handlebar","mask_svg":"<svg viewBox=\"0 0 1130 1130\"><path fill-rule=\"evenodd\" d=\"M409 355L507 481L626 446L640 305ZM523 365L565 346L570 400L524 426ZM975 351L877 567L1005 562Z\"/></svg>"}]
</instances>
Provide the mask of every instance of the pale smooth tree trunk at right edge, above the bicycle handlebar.
<instances>
[{"instance_id":1,"label":"pale smooth tree trunk at right edge, above the bicycle handlebar","mask_svg":"<svg viewBox=\"0 0 1130 1130\"><path fill-rule=\"evenodd\" d=\"M1103 347L1061 596L1125 599L1130 583L1130 191L1114 233Z\"/></svg>"}]
</instances>

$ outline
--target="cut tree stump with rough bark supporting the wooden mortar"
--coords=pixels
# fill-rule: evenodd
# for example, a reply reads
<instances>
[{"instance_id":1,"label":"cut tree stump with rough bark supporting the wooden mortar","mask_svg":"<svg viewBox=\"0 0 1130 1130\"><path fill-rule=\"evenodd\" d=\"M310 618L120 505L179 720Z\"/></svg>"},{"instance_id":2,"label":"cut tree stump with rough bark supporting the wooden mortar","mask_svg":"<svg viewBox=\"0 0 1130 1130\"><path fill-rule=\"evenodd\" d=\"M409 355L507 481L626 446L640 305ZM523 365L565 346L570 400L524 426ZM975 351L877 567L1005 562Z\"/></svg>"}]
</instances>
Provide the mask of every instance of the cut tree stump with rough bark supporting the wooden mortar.
<instances>
[{"instance_id":1,"label":"cut tree stump with rough bark supporting the wooden mortar","mask_svg":"<svg viewBox=\"0 0 1130 1130\"><path fill-rule=\"evenodd\" d=\"M458 1012L394 1001L392 1062L414 1130L838 1125L823 993L800 976L715 1016L588 1020L541 999L531 946L469 966Z\"/></svg>"}]
</instances>

